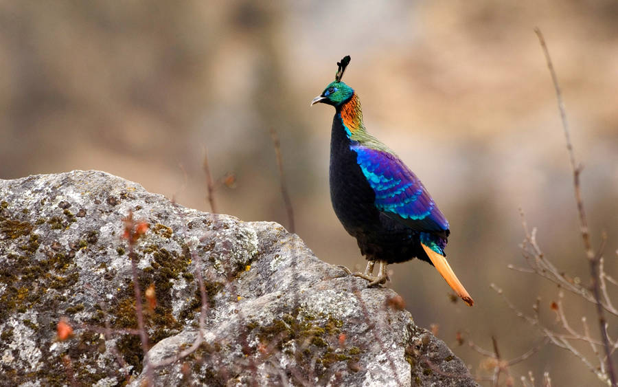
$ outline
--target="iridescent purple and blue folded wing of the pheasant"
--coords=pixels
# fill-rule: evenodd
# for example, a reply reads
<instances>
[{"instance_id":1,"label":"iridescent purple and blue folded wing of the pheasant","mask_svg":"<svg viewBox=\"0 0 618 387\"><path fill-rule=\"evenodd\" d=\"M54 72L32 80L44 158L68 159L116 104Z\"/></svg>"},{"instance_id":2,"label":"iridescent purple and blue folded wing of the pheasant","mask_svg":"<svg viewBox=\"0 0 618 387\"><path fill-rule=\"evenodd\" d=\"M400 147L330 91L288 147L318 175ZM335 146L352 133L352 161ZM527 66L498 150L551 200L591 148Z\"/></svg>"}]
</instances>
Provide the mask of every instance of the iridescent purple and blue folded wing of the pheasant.
<instances>
[{"instance_id":1,"label":"iridescent purple and blue folded wing of the pheasant","mask_svg":"<svg viewBox=\"0 0 618 387\"><path fill-rule=\"evenodd\" d=\"M392 219L420 232L448 236L448 221L420 179L396 155L352 145L356 162L376 193L376 207Z\"/></svg>"}]
</instances>

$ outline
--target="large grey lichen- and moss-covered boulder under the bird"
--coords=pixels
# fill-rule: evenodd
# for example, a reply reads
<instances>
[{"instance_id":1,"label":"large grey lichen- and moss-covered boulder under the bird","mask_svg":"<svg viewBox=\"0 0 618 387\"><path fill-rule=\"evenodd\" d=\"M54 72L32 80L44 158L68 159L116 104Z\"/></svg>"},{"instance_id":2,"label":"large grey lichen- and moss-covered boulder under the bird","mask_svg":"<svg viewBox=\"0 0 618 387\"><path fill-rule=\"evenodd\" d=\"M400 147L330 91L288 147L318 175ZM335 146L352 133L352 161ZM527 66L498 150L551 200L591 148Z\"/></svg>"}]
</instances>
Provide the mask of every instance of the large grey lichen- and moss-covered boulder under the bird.
<instances>
[{"instance_id":1,"label":"large grey lichen- and moss-covered boulder under the bird","mask_svg":"<svg viewBox=\"0 0 618 387\"><path fill-rule=\"evenodd\" d=\"M140 300L146 360L129 212L149 225L133 247L141 294L156 294ZM1 385L476 386L393 291L365 285L277 223L184 208L113 175L0 180ZM62 318L73 335L60 341Z\"/></svg>"}]
</instances>

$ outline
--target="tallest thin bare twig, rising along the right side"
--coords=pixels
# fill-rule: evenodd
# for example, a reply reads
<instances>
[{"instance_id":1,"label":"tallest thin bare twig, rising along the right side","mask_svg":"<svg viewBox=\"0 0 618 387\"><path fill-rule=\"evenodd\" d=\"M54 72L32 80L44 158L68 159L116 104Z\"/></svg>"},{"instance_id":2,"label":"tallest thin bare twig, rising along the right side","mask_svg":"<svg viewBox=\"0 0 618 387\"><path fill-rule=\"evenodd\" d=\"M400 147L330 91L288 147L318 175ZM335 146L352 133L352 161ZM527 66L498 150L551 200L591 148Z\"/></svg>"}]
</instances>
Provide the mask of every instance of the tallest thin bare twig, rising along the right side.
<instances>
[{"instance_id":1,"label":"tallest thin bare twig, rising along the right side","mask_svg":"<svg viewBox=\"0 0 618 387\"><path fill-rule=\"evenodd\" d=\"M590 265L591 282L593 288L593 294L597 303L597 317L599 318L599 329L601 331L601 337L603 340L603 347L607 357L607 373L612 386L616 386L616 376L614 373L614 366L611 360L610 343L607 337L606 320L603 313L603 306L601 304L601 290L599 288L599 259L595 256L593 247L590 241L590 234L588 231L588 221L586 219L586 212L584 212L584 201L582 200L582 192L580 190L580 173L582 171L581 166L577 166L575 163L575 155L573 152L573 145L571 143L571 136L569 135L569 124L567 122L567 113L564 109L564 102L562 101L562 92L560 91L560 85L558 84L558 76L553 69L551 63L551 56L549 56L549 50L547 44L545 44L545 38L538 27L534 32L538 36L538 41L545 53L545 59L547 60L547 68L551 74L551 80L553 81L553 87L556 89L556 98L558 99L558 110L560 110L560 118L562 119L562 128L564 129L564 138L567 140L567 151L569 151L569 160L571 161L571 168L573 168L573 188L575 190L575 201L577 203L577 213L580 216L580 230L582 233L582 241L584 241L584 249L586 250L586 258Z\"/></svg>"}]
</instances>

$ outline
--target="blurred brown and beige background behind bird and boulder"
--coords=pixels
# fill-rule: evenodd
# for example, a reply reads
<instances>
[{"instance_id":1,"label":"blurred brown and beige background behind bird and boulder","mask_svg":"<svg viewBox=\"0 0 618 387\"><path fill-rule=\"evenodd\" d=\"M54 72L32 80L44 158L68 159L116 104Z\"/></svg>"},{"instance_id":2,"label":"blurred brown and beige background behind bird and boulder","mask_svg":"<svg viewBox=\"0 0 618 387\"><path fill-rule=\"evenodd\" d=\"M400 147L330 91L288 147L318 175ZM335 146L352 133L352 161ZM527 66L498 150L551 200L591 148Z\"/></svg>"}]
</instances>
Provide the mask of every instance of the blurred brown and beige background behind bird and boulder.
<instances>
[{"instance_id":1,"label":"blurred brown and beige background behind bird and boulder","mask_svg":"<svg viewBox=\"0 0 618 387\"><path fill-rule=\"evenodd\" d=\"M345 54L345 82L371 133L431 192L451 225L449 261L477 304L453 304L437 272L393 265L389 286L415 322L472 368L465 340L516 357L542 338L518 307L556 286L524 265L518 208L558 267L588 280L556 96L534 27L545 33L567 106L593 243L608 234L618 276L618 3L598 1L0 1L0 178L73 169L137 181L184 206L288 225L268 131L281 139L296 232L333 264L364 267L330 206L334 110L309 107ZM616 288L610 288L613 294ZM618 300L618 294L616 294ZM567 295L574 327L593 316ZM596 326L593 326L596 333ZM618 336L616 324L610 337ZM565 351L546 347L512 368L549 371L556 386L598 384Z\"/></svg>"}]
</instances>

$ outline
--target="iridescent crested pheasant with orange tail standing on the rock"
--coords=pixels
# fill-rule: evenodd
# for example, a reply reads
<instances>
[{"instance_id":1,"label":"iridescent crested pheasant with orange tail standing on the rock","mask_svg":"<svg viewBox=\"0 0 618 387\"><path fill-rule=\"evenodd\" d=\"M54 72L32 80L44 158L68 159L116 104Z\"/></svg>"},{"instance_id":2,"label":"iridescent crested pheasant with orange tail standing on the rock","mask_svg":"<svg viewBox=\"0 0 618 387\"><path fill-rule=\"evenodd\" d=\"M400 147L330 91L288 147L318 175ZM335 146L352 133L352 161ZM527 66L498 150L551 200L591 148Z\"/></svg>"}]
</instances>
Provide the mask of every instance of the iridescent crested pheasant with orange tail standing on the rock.
<instances>
[{"instance_id":1,"label":"iridescent crested pheasant with orange tail standing on the rock","mask_svg":"<svg viewBox=\"0 0 618 387\"><path fill-rule=\"evenodd\" d=\"M361 100L341 81L350 64L337 62L335 79L310 106L335 109L330 140L330 199L336 216L358 242L367 259L365 272L347 274L369 281L368 287L390 280L387 265L413 258L433 265L470 307L474 300L446 261L450 229L446 217L420 179L376 137L367 132ZM378 264L378 275L374 266Z\"/></svg>"}]
</instances>

